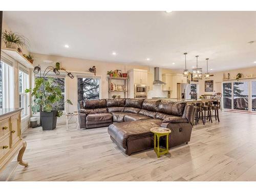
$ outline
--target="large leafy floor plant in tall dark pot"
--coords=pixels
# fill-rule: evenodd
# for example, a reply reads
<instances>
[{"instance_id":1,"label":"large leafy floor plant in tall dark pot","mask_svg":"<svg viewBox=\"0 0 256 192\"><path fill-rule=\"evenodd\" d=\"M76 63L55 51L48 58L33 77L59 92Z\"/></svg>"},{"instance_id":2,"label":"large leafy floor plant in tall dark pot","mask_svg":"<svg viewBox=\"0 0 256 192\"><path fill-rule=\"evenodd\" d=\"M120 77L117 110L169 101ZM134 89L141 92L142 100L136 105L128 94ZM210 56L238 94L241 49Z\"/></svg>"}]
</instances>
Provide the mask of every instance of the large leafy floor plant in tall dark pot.
<instances>
[{"instance_id":1,"label":"large leafy floor plant in tall dark pot","mask_svg":"<svg viewBox=\"0 0 256 192\"><path fill-rule=\"evenodd\" d=\"M52 77L38 77L35 79L35 87L26 89L26 93L32 92L34 96L33 103L30 104L33 113L40 112L40 122L42 130L54 130L56 128L57 117L60 117L63 112L59 110L60 105L56 105L63 96L61 89L54 85ZM65 102L72 104L67 99ZM56 105L56 106L55 106Z\"/></svg>"}]
</instances>

